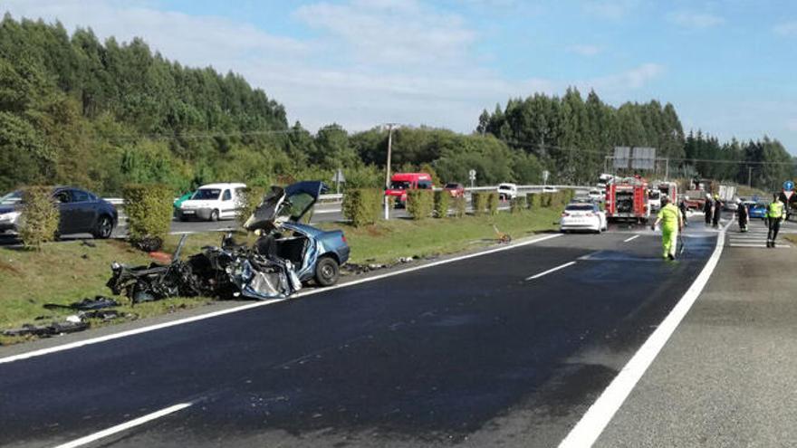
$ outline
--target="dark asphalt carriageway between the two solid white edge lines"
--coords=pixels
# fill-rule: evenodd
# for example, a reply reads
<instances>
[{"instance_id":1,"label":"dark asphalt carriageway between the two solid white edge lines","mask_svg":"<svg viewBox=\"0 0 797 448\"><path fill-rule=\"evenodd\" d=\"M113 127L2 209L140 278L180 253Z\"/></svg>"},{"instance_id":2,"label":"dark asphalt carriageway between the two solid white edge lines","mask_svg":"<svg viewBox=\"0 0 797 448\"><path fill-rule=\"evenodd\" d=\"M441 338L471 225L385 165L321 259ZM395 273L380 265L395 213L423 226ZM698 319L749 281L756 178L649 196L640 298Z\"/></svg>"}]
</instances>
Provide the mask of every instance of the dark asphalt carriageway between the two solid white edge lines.
<instances>
[{"instance_id":1,"label":"dark asphalt carriageway between the two solid white edge lines","mask_svg":"<svg viewBox=\"0 0 797 448\"><path fill-rule=\"evenodd\" d=\"M68 443L185 404L100 443L554 446L715 245L696 228L663 262L658 235L638 230L0 364L0 445Z\"/></svg>"}]
</instances>

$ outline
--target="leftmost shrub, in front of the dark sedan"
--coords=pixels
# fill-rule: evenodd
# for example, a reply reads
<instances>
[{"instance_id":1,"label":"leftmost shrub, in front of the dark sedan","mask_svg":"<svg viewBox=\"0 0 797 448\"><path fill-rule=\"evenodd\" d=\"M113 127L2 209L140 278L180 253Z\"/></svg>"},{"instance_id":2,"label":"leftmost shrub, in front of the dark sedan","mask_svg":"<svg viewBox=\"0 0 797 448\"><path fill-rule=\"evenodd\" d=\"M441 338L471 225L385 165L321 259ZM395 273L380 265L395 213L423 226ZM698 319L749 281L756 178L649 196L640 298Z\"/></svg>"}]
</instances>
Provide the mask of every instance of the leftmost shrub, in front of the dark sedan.
<instances>
[{"instance_id":1,"label":"leftmost shrub, in front of the dark sedan","mask_svg":"<svg viewBox=\"0 0 797 448\"><path fill-rule=\"evenodd\" d=\"M60 214L50 186L30 186L23 193L19 237L27 248L41 249L58 232Z\"/></svg>"}]
</instances>

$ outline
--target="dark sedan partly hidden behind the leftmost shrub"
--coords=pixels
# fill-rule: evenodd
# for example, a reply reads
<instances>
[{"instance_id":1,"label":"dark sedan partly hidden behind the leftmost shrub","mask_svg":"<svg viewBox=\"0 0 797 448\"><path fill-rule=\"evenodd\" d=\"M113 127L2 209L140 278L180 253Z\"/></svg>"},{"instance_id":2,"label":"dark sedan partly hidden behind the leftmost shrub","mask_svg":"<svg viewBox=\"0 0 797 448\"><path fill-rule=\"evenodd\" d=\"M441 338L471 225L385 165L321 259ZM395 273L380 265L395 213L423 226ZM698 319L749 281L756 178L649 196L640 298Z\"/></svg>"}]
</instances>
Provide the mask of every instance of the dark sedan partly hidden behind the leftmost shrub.
<instances>
[{"instance_id":1,"label":"dark sedan partly hidden behind the leftmost shrub","mask_svg":"<svg viewBox=\"0 0 797 448\"><path fill-rule=\"evenodd\" d=\"M0 233L17 232L19 227L22 190L0 197ZM58 186L53 189L61 222L58 234L92 234L94 238L109 238L119 221L116 207L108 201L80 188Z\"/></svg>"}]
</instances>

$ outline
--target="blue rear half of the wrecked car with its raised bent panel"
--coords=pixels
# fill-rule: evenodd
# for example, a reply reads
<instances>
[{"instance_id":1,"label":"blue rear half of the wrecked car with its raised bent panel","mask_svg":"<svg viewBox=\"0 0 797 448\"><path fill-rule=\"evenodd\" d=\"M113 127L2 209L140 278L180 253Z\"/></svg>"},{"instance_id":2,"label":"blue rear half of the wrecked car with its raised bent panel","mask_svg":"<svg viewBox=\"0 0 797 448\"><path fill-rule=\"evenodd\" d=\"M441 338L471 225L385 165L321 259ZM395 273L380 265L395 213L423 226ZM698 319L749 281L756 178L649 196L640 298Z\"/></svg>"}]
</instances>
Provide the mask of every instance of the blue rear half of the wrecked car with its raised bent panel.
<instances>
[{"instance_id":1,"label":"blue rear half of the wrecked car with its raised bent panel","mask_svg":"<svg viewBox=\"0 0 797 448\"><path fill-rule=\"evenodd\" d=\"M300 223L325 191L327 186L319 181L273 186L244 227L261 231L255 243L259 252L292 262L300 281L331 286L338 281L341 264L349 261L346 237L340 230L327 232Z\"/></svg>"}]
</instances>

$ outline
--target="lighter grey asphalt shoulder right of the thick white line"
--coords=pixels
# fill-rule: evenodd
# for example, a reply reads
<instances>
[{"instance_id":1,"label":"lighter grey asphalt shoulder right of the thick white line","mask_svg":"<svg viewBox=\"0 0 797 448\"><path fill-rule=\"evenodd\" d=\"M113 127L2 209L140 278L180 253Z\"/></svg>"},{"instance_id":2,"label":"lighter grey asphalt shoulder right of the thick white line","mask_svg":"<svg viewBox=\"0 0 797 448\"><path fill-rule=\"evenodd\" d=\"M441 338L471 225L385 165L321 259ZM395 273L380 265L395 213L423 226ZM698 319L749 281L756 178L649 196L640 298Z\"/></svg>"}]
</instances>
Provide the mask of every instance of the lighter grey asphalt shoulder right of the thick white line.
<instances>
[{"instance_id":1,"label":"lighter grey asphalt shoulder right of the thick white line","mask_svg":"<svg viewBox=\"0 0 797 448\"><path fill-rule=\"evenodd\" d=\"M706 290L596 447L797 444L797 277L786 273L797 251L765 239L761 221L729 227Z\"/></svg>"}]
</instances>

